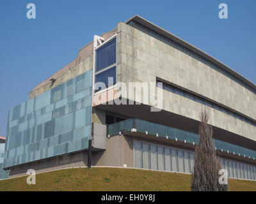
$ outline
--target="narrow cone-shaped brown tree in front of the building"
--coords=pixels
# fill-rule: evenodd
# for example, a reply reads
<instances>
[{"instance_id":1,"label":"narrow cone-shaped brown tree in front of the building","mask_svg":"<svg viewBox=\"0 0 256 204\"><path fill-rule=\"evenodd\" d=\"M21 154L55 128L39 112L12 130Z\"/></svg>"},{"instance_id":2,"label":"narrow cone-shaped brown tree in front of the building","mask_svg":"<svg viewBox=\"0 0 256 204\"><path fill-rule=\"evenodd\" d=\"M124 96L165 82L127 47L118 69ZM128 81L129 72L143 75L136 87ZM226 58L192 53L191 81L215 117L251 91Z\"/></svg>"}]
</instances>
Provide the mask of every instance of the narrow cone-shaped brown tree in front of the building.
<instances>
[{"instance_id":1,"label":"narrow cone-shaped brown tree in front of the building","mask_svg":"<svg viewBox=\"0 0 256 204\"><path fill-rule=\"evenodd\" d=\"M207 124L209 114L200 113L199 142L195 148L191 191L227 191L228 185L219 184L220 158L216 156L212 140L212 126Z\"/></svg>"}]
</instances>

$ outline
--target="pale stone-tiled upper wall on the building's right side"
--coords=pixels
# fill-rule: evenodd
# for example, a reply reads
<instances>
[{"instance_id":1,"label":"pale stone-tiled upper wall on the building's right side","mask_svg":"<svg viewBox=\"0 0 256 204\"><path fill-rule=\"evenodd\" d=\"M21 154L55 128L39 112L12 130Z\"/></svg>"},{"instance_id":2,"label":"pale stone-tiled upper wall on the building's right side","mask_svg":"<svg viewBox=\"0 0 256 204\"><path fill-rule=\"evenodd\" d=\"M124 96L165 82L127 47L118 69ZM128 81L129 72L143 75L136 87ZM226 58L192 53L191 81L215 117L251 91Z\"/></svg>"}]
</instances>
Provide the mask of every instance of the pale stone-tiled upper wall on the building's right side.
<instances>
[{"instance_id":1,"label":"pale stone-tiled upper wall on the building's right side","mask_svg":"<svg viewBox=\"0 0 256 204\"><path fill-rule=\"evenodd\" d=\"M118 23L117 32L118 82L156 83L156 77L163 78L256 119L256 95L237 82L130 25ZM143 91L141 95L143 98ZM145 103L143 99L141 102ZM163 110L168 112L199 120L202 106L188 98L163 91ZM207 108L211 114L209 122L213 126L256 140L255 126Z\"/></svg>"}]
</instances>

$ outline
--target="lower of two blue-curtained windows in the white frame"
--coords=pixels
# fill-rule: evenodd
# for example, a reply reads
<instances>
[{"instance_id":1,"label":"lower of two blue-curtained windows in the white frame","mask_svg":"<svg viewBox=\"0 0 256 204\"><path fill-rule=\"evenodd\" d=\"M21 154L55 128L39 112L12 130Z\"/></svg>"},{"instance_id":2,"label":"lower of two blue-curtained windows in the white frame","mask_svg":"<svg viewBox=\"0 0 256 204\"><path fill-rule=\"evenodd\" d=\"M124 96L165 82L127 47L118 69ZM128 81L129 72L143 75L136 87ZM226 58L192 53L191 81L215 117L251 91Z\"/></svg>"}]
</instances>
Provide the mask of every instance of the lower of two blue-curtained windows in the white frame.
<instances>
[{"instance_id":1,"label":"lower of two blue-curtained windows in the white frame","mask_svg":"<svg viewBox=\"0 0 256 204\"><path fill-rule=\"evenodd\" d=\"M100 91L101 89L106 89L111 87L111 85L116 84L116 67L107 69L97 75L95 75L95 83L102 82L100 84L95 84L95 91Z\"/></svg>"}]
</instances>

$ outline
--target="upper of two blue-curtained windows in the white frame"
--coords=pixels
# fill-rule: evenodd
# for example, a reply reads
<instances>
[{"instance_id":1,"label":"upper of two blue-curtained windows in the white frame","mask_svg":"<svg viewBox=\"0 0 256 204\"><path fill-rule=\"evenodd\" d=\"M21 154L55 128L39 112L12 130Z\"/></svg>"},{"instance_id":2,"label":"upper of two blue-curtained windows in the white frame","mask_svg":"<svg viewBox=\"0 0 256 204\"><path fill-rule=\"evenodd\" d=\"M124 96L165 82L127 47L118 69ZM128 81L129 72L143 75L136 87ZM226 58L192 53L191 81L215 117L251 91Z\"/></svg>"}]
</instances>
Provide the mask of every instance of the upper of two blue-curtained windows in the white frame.
<instances>
[{"instance_id":1,"label":"upper of two blue-curtained windows in the white frame","mask_svg":"<svg viewBox=\"0 0 256 204\"><path fill-rule=\"evenodd\" d=\"M96 50L96 72L116 63L116 38Z\"/></svg>"}]
</instances>

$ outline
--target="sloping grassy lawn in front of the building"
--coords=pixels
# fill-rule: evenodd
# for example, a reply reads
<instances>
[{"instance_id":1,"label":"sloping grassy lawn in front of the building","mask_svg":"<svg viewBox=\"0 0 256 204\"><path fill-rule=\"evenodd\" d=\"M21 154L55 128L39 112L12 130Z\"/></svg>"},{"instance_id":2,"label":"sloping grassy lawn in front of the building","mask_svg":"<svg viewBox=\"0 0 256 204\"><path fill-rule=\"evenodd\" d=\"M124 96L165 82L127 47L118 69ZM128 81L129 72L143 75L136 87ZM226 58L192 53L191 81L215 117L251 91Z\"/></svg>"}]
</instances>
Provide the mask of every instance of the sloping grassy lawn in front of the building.
<instances>
[{"instance_id":1,"label":"sloping grassy lawn in front of the building","mask_svg":"<svg viewBox=\"0 0 256 204\"><path fill-rule=\"evenodd\" d=\"M190 191L191 175L129 168L71 168L0 180L0 191ZM229 179L229 191L256 191L256 182Z\"/></svg>"}]
</instances>

